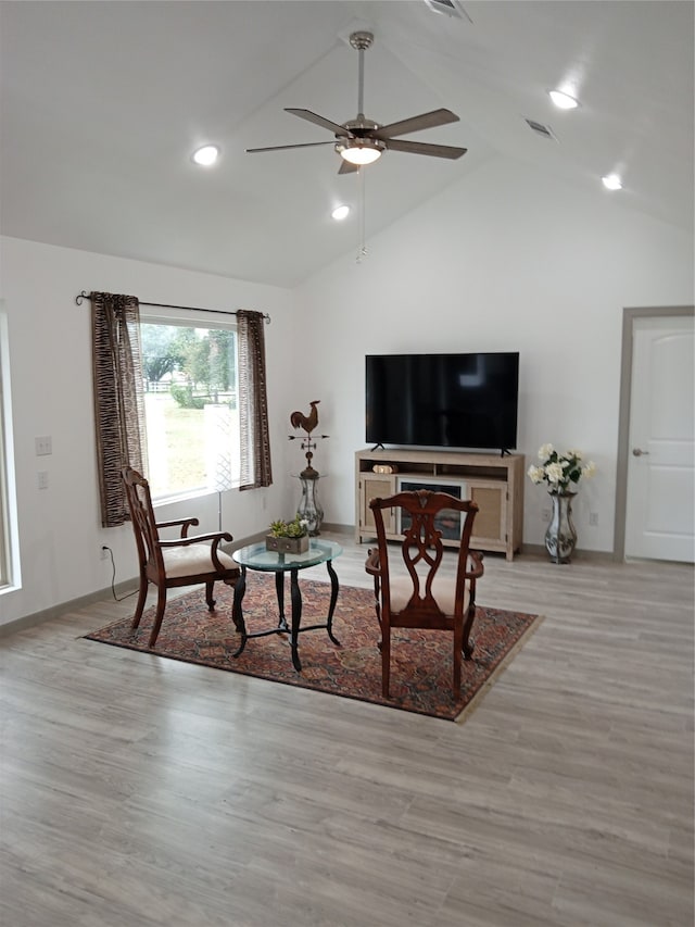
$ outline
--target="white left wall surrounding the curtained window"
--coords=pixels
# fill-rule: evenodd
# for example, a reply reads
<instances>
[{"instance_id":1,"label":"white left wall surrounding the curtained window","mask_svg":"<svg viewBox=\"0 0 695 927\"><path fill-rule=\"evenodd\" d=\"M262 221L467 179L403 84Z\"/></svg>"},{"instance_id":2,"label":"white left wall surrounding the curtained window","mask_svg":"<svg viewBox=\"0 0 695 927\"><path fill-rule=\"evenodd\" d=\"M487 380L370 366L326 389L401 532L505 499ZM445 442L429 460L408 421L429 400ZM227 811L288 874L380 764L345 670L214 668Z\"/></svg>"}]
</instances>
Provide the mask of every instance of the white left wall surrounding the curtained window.
<instances>
[{"instance_id":1,"label":"white left wall surrounding the curtained window","mask_svg":"<svg viewBox=\"0 0 695 927\"><path fill-rule=\"evenodd\" d=\"M137 573L132 530L103 529L99 514L92 412L90 303L81 290L138 296L143 301L207 309L255 309L271 315L265 328L274 486L224 493L223 527L235 539L264 529L292 510L286 462L292 365L292 296L286 290L91 254L17 239L0 239L2 292L8 313L12 375L22 588L0 594L0 624L68 602L111 582L102 543L115 554L116 581ZM35 438L50 435L51 456L35 454ZM49 488L39 490L37 472ZM293 487L292 487L293 489ZM193 514L201 531L216 530L217 494L161 517Z\"/></svg>"}]
</instances>

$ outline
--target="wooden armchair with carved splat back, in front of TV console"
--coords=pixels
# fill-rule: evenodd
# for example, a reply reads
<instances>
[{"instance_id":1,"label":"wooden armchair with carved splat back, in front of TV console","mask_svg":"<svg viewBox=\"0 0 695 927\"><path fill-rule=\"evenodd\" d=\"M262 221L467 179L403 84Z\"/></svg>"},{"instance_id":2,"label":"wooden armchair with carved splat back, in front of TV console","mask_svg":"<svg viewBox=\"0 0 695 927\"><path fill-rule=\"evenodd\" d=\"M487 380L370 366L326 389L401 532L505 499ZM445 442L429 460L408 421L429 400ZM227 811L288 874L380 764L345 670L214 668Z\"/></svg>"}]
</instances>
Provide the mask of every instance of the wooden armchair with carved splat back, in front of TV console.
<instances>
[{"instance_id":1,"label":"wooden armchair with carved splat back, in front of TV console","mask_svg":"<svg viewBox=\"0 0 695 927\"><path fill-rule=\"evenodd\" d=\"M470 660L470 630L476 617L476 580L483 574L482 554L469 550L478 505L445 492L418 489L387 499L372 499L369 508L377 528L376 550L370 550L365 569L374 577L377 619L381 628L381 688L389 698L391 628L433 628L454 634L454 697L460 698L460 657ZM387 542L384 509L400 512L403 541L399 548ZM460 513L460 514L458 514ZM455 574L440 571L442 531L438 525L451 515L463 521ZM401 552L405 571L399 563Z\"/></svg>"}]
</instances>

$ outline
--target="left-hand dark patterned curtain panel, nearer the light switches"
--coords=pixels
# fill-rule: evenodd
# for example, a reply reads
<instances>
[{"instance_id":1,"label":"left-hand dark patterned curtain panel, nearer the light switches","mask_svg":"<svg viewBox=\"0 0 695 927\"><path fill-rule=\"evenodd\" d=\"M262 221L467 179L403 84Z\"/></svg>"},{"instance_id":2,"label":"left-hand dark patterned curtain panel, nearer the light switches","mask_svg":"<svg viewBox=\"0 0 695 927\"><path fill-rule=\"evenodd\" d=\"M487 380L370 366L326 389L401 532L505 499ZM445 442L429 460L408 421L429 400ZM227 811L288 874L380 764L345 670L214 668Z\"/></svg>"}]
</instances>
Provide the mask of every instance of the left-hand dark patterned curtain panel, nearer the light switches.
<instances>
[{"instance_id":1,"label":"left-hand dark patterned curtain panel, nearer the light switches","mask_svg":"<svg viewBox=\"0 0 695 927\"><path fill-rule=\"evenodd\" d=\"M101 524L111 528L130 518L122 468L148 469L140 309L134 296L90 299Z\"/></svg>"}]
</instances>

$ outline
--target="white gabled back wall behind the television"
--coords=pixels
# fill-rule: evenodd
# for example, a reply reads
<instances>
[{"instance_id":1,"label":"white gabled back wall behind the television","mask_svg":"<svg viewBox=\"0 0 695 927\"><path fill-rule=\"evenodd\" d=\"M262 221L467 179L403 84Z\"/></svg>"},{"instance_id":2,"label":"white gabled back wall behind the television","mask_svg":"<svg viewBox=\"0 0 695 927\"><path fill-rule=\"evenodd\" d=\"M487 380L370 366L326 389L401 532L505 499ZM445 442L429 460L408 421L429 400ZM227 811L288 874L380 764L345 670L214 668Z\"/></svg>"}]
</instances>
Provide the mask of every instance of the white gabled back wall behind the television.
<instances>
[{"instance_id":1,"label":"white gabled back wall behind the television","mask_svg":"<svg viewBox=\"0 0 695 927\"><path fill-rule=\"evenodd\" d=\"M304 391L331 435L317 455L328 522L354 523L365 354L519 351L518 451L527 466L546 441L595 460L574 505L579 547L612 550L622 310L692 304L694 286L692 235L626 201L500 159L368 241L361 264L349 255L298 289ZM542 543L543 506L527 480L527 543Z\"/></svg>"}]
</instances>

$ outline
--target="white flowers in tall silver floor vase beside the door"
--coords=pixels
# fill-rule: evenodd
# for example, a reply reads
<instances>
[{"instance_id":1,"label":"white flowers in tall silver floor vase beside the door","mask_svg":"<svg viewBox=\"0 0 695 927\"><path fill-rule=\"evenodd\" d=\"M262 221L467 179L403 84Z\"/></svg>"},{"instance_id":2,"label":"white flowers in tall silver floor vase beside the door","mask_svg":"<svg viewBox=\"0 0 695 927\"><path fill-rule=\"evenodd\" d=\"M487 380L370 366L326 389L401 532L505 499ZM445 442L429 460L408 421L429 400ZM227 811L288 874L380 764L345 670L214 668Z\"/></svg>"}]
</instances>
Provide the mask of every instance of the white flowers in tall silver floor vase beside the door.
<instances>
[{"instance_id":1,"label":"white flowers in tall silver floor vase beside the door","mask_svg":"<svg viewBox=\"0 0 695 927\"><path fill-rule=\"evenodd\" d=\"M532 464L528 475L533 483L547 483L547 491L553 500L553 514L545 533L545 549L554 563L569 563L577 544L577 529L572 523L572 499L577 496L572 487L584 477L589 479L596 473L596 464L589 461L582 464L581 451L555 450L553 444L539 448L541 465Z\"/></svg>"}]
</instances>

